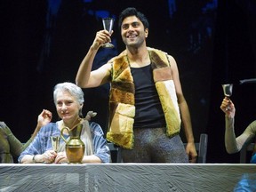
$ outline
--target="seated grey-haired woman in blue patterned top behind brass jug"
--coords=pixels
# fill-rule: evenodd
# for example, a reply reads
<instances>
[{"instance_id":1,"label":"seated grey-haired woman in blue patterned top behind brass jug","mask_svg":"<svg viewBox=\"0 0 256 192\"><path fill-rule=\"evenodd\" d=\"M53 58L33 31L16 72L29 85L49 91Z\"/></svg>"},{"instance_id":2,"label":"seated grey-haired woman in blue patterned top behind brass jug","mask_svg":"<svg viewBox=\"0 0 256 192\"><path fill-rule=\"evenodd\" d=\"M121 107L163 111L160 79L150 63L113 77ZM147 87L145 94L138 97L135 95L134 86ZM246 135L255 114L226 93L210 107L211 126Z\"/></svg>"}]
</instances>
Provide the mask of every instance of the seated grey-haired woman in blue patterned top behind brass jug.
<instances>
[{"instance_id":1,"label":"seated grey-haired woman in blue patterned top behind brass jug","mask_svg":"<svg viewBox=\"0 0 256 192\"><path fill-rule=\"evenodd\" d=\"M77 124L82 124L81 140L83 140L85 146L82 163L109 163L110 151L100 125L86 120L90 119L93 113L88 114L89 117L87 116L86 119L82 118L82 108L84 106L84 92L82 89L72 83L57 84L54 87L53 99L61 120L42 127L35 140L20 154L18 161L21 164L68 163L65 141L60 140L60 148L56 152L52 148L51 136L60 136L63 127L72 129ZM68 132L63 133L66 140L68 140Z\"/></svg>"}]
</instances>

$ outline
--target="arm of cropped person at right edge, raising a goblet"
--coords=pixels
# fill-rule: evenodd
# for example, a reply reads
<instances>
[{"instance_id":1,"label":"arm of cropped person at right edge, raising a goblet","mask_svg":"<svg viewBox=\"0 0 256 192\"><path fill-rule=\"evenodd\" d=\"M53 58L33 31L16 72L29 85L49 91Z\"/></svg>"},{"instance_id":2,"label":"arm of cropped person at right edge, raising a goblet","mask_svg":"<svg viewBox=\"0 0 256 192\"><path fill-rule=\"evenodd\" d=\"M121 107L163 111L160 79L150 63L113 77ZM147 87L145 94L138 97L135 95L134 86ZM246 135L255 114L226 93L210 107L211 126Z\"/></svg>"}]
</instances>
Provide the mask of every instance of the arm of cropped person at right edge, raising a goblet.
<instances>
[{"instance_id":1,"label":"arm of cropped person at right edge, raising a goblet","mask_svg":"<svg viewBox=\"0 0 256 192\"><path fill-rule=\"evenodd\" d=\"M228 154L237 153L248 143L253 142L256 136L256 120L249 124L244 132L236 137L235 134L235 114L236 108L232 100L224 98L220 109L225 113L225 147ZM256 151L253 151L251 163L256 164Z\"/></svg>"}]
</instances>

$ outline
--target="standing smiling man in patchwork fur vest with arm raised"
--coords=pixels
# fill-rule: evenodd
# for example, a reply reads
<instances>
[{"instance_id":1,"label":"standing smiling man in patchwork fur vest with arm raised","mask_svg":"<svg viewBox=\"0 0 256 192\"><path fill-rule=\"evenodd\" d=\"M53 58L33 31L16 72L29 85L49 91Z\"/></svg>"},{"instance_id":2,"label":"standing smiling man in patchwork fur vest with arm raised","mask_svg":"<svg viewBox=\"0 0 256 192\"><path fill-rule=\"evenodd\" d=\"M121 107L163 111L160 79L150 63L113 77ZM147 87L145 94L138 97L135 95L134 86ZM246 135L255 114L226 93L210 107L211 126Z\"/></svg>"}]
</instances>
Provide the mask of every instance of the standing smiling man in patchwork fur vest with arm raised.
<instances>
[{"instance_id":1,"label":"standing smiling man in patchwork fur vest with arm raised","mask_svg":"<svg viewBox=\"0 0 256 192\"><path fill-rule=\"evenodd\" d=\"M82 88L110 83L107 140L121 148L124 163L196 163L196 148L188 104L176 61L146 45L148 20L135 8L119 16L126 49L92 71L107 30L97 32L80 64L76 84ZM92 71L92 72L91 72ZM180 139L183 124L188 145Z\"/></svg>"}]
</instances>

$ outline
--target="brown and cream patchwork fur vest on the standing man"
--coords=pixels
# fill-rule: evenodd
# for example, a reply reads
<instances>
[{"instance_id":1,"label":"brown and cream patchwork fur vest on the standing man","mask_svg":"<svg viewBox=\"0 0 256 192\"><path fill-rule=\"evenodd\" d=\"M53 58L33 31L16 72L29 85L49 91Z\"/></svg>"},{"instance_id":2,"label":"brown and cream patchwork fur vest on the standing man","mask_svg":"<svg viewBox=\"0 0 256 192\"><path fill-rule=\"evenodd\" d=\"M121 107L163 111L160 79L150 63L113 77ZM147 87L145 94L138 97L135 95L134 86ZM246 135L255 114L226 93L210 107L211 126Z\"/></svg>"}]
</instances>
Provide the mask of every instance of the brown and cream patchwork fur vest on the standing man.
<instances>
[{"instance_id":1,"label":"brown and cream patchwork fur vest on the standing man","mask_svg":"<svg viewBox=\"0 0 256 192\"><path fill-rule=\"evenodd\" d=\"M167 53L148 47L156 90L164 110L166 134L172 137L180 133L180 110L172 69ZM109 92L109 121L107 140L122 148L133 147L133 123L135 116L135 87L129 60L125 51L112 62ZM143 78L143 77L141 77Z\"/></svg>"}]
</instances>

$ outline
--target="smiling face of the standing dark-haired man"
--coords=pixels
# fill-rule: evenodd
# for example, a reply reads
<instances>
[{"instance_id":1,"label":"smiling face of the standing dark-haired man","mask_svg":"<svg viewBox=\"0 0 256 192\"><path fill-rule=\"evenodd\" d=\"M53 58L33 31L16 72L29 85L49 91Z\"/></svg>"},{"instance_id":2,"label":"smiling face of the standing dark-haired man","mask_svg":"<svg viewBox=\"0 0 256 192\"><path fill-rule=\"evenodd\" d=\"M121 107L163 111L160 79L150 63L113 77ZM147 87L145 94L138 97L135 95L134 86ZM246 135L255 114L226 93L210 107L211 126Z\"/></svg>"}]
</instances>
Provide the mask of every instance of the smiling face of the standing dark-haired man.
<instances>
[{"instance_id":1,"label":"smiling face of the standing dark-haired man","mask_svg":"<svg viewBox=\"0 0 256 192\"><path fill-rule=\"evenodd\" d=\"M145 29L136 16L126 17L121 26L121 36L126 46L139 47L148 37L148 28Z\"/></svg>"}]
</instances>

